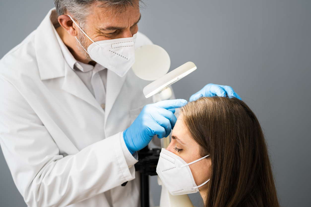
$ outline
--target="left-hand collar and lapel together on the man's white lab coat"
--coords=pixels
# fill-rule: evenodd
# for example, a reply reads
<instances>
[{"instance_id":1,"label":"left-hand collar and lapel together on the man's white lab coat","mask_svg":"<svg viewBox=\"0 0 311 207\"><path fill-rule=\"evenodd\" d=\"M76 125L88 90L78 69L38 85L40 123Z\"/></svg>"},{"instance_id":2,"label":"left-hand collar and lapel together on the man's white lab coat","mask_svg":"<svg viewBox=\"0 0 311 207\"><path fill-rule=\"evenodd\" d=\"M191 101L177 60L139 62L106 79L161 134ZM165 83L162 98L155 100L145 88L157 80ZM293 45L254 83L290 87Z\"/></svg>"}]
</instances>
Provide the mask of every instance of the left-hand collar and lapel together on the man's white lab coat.
<instances>
[{"instance_id":1,"label":"left-hand collar and lapel together on the man's white lab coat","mask_svg":"<svg viewBox=\"0 0 311 207\"><path fill-rule=\"evenodd\" d=\"M51 22L52 15L57 15L55 8L46 15L35 35L35 50L41 80L65 76L62 86L64 91L81 98L104 113L89 89L64 60Z\"/></svg>"}]
</instances>

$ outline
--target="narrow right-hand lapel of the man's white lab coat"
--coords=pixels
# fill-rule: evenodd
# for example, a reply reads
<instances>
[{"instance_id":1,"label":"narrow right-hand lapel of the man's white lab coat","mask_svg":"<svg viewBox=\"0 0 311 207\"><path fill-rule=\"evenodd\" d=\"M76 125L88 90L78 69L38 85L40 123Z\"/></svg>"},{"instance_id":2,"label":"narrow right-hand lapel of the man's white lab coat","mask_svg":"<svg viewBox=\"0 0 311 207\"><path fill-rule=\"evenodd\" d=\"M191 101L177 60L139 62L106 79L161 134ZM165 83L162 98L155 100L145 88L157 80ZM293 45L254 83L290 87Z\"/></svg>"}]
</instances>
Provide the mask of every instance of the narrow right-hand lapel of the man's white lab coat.
<instances>
[{"instance_id":1,"label":"narrow right-hand lapel of the man's white lab coat","mask_svg":"<svg viewBox=\"0 0 311 207\"><path fill-rule=\"evenodd\" d=\"M125 74L122 78L113 71L107 71L107 87L106 87L106 106L105 106L105 124L107 123L108 115L117 99L123 83L127 77Z\"/></svg>"}]
</instances>

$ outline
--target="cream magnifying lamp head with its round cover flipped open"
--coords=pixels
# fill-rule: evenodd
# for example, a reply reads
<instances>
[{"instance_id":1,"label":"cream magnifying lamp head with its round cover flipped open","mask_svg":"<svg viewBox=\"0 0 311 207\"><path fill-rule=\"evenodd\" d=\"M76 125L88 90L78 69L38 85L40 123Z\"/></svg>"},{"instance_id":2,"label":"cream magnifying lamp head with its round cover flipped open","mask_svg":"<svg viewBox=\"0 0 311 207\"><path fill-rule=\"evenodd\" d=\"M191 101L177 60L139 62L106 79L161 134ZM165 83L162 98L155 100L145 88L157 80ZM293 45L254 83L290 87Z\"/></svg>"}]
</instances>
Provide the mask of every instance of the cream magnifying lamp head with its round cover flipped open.
<instances>
[{"instance_id":1,"label":"cream magnifying lamp head with its round cover flipped open","mask_svg":"<svg viewBox=\"0 0 311 207\"><path fill-rule=\"evenodd\" d=\"M197 69L193 62L187 62L167 73L170 63L169 54L158 45L143 45L135 50L133 72L141 79L154 80L143 89L146 98L155 95L154 102L170 99L169 86Z\"/></svg>"}]
</instances>

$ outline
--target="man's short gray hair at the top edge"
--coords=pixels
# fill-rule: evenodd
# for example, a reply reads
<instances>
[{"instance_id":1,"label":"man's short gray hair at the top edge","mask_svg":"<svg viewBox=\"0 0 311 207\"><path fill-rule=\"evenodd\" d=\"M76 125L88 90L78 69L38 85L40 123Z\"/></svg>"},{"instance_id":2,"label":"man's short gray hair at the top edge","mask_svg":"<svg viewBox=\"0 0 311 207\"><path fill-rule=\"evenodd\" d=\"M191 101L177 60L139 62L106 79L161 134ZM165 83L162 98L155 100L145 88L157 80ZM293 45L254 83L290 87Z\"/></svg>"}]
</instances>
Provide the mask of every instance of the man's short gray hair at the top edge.
<instances>
[{"instance_id":1,"label":"man's short gray hair at the top edge","mask_svg":"<svg viewBox=\"0 0 311 207\"><path fill-rule=\"evenodd\" d=\"M127 6L139 6L140 0L54 0L58 16L65 12L70 13L72 18L83 27L86 17L91 13L90 5L94 2L101 2L100 7L117 7L122 9Z\"/></svg>"}]
</instances>

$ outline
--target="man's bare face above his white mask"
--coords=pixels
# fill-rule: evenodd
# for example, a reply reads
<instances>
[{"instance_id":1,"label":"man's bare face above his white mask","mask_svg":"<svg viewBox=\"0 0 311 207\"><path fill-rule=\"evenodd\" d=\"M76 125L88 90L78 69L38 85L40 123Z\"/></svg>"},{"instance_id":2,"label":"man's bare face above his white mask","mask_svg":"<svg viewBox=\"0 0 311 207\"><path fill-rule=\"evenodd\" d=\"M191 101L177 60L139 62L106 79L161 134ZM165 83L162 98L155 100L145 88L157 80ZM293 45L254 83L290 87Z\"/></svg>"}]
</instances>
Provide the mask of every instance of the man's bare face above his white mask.
<instances>
[{"instance_id":1,"label":"man's bare face above his white mask","mask_svg":"<svg viewBox=\"0 0 311 207\"><path fill-rule=\"evenodd\" d=\"M100 2L92 5L92 14L87 17L84 31L94 41L128 38L138 31L137 23L140 20L139 6L127 6L126 8L99 7ZM76 25L73 25L76 26ZM84 35L80 33L78 36ZM88 40L87 45L92 42ZM87 48L87 47L86 47Z\"/></svg>"}]
</instances>

